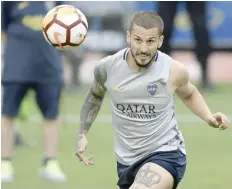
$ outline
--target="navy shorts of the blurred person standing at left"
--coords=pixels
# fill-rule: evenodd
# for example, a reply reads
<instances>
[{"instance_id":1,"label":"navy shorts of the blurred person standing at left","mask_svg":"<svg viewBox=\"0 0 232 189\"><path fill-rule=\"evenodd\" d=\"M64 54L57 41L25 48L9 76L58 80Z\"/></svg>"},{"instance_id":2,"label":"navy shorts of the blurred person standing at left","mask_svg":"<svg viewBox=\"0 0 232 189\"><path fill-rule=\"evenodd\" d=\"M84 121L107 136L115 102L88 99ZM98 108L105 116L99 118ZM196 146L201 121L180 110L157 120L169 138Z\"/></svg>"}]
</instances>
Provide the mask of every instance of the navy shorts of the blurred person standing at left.
<instances>
[{"instance_id":1,"label":"navy shorts of the blurred person standing at left","mask_svg":"<svg viewBox=\"0 0 232 189\"><path fill-rule=\"evenodd\" d=\"M59 115L61 84L4 83L2 85L2 114L17 116L21 102L29 89L36 93L36 102L46 119L56 119Z\"/></svg>"}]
</instances>

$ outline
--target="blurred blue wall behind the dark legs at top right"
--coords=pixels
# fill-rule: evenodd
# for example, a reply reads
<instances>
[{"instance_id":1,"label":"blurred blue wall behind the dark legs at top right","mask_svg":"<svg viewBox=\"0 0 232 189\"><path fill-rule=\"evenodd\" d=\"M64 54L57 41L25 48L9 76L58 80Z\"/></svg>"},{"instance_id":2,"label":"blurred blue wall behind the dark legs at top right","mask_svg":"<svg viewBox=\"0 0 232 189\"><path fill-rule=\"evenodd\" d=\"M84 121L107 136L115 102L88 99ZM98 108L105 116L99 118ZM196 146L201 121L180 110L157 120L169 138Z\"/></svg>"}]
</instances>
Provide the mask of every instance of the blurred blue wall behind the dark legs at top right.
<instances>
[{"instance_id":1,"label":"blurred blue wall behind the dark legs at top right","mask_svg":"<svg viewBox=\"0 0 232 189\"><path fill-rule=\"evenodd\" d=\"M157 10L157 2L136 2L138 10ZM232 2L206 2L207 21L212 44L215 47L232 47ZM168 10L167 10L168 11ZM191 22L186 24L185 2L180 2L172 37L174 46L191 46L193 36ZM189 23L189 22L187 22Z\"/></svg>"}]
</instances>

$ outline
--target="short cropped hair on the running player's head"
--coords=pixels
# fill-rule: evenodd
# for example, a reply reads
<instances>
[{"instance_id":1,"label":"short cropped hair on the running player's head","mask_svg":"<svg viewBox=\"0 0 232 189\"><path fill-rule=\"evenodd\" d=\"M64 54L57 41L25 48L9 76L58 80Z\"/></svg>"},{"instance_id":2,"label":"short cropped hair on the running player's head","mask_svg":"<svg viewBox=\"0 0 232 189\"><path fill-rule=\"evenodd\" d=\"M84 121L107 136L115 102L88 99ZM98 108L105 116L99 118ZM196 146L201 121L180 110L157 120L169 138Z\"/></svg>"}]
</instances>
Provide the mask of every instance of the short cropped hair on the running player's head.
<instances>
[{"instance_id":1,"label":"short cropped hair on the running player's head","mask_svg":"<svg viewBox=\"0 0 232 189\"><path fill-rule=\"evenodd\" d=\"M137 25L145 29L158 28L160 35L162 35L164 30L164 23L162 18L155 12L139 12L136 13L131 22L129 31L133 30L133 26Z\"/></svg>"}]
</instances>

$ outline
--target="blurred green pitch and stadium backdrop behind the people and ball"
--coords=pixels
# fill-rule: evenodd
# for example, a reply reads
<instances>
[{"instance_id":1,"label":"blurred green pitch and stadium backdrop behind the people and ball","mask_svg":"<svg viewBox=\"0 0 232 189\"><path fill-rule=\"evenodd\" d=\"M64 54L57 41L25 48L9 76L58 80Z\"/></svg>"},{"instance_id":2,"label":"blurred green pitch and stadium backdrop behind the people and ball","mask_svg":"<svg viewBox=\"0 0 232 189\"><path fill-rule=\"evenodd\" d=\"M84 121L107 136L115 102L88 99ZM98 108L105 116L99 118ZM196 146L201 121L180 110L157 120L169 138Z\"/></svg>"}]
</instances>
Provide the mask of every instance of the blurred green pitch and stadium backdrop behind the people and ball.
<instances>
[{"instance_id":1,"label":"blurred green pitch and stadium backdrop behind the people and ball","mask_svg":"<svg viewBox=\"0 0 232 189\"><path fill-rule=\"evenodd\" d=\"M62 3L62 2L61 2ZM88 86L93 79L95 63L106 55L125 48L126 31L131 16L137 11L158 11L160 2L153 1L69 1L79 8L89 22L83 44L61 52L65 87L61 101L59 160L67 174L65 183L52 183L38 177L43 151L42 117L29 94L24 119L17 120L23 139L29 145L15 148L13 164L15 181L2 184L3 189L116 189L116 162L113 154L111 106L106 96L98 118L89 132L88 152L95 165L84 167L75 157L79 114ZM232 120L232 3L205 2L206 25L209 29L211 53L208 57L208 79L213 87L203 90L201 62L195 55L192 22L186 3L180 2L170 40L170 55L186 64L191 80L199 87L212 111L221 111ZM54 2L46 2L51 9ZM168 14L169 10L167 10ZM165 24L165 23L164 23ZM165 37L165 36L164 36ZM203 42L204 43L204 42ZM2 44L2 66L4 45ZM175 101L180 129L186 140L188 167L180 189L231 189L232 130L209 128L193 115L178 99Z\"/></svg>"}]
</instances>

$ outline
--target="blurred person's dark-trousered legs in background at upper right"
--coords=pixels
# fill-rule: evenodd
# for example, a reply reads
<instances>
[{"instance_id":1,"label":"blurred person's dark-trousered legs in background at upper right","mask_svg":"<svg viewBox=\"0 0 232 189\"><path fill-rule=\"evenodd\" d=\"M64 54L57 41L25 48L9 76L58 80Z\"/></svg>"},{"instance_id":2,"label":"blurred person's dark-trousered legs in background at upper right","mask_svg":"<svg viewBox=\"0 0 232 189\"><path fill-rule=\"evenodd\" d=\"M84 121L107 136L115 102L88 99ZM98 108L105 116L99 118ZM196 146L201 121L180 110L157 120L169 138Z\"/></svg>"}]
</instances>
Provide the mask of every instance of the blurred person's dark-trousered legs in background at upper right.
<instances>
[{"instance_id":1,"label":"blurred person's dark-trousered legs in background at upper right","mask_svg":"<svg viewBox=\"0 0 232 189\"><path fill-rule=\"evenodd\" d=\"M177 6L181 2L178 1L160 1L158 14L163 18L165 23L164 27L164 42L161 47L161 51L170 54L171 53L171 36L174 29L174 18L177 11ZM183 3L183 2L182 2ZM211 53L209 31L206 23L206 2L205 1L186 1L186 8L190 15L193 34L196 39L195 53L196 57L201 64L202 70L202 83L203 89L213 89L211 82L209 81L208 71L208 58Z\"/></svg>"}]
</instances>

